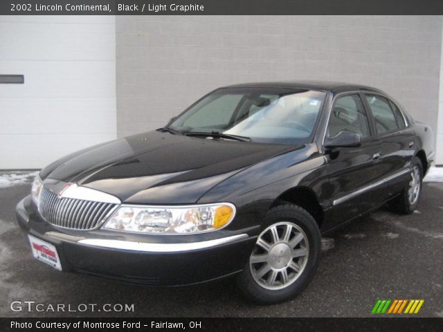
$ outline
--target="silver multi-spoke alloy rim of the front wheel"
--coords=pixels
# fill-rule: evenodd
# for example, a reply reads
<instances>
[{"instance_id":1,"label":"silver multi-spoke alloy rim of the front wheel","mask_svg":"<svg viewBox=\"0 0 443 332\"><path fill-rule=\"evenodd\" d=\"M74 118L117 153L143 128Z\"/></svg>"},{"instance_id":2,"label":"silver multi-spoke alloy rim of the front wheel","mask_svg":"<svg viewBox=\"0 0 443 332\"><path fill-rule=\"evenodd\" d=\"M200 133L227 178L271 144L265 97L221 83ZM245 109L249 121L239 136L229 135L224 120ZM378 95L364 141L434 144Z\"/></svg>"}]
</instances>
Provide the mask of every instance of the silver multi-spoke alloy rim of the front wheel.
<instances>
[{"instance_id":1,"label":"silver multi-spoke alloy rim of the front wheel","mask_svg":"<svg viewBox=\"0 0 443 332\"><path fill-rule=\"evenodd\" d=\"M275 223L259 235L249 259L253 279L277 290L293 284L305 270L309 242L305 232L288 221Z\"/></svg>"}]
</instances>

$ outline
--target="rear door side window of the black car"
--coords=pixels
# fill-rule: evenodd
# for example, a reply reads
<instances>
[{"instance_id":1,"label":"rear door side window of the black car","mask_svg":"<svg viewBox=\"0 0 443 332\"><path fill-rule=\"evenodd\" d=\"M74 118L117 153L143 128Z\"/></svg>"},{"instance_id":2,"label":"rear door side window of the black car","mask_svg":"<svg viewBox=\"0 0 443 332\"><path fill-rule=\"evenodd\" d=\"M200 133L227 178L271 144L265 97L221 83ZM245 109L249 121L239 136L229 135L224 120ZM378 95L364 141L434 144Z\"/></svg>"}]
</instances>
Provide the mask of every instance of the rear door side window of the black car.
<instances>
[{"instance_id":1,"label":"rear door side window of the black car","mask_svg":"<svg viewBox=\"0 0 443 332\"><path fill-rule=\"evenodd\" d=\"M377 133L388 133L399 129L397 119L386 98L380 95L366 95Z\"/></svg>"}]
</instances>

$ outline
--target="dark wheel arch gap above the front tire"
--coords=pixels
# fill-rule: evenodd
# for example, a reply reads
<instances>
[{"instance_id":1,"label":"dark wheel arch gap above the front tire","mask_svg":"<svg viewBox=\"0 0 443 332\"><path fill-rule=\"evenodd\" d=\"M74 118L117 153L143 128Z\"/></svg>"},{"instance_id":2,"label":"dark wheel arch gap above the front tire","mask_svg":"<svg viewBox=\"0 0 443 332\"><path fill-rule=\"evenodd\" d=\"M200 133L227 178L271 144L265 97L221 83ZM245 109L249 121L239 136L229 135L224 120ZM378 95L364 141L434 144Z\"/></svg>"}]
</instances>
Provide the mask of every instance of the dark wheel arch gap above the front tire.
<instances>
[{"instance_id":1,"label":"dark wheel arch gap above the front tire","mask_svg":"<svg viewBox=\"0 0 443 332\"><path fill-rule=\"evenodd\" d=\"M277 199L271 205L271 208L282 202L289 202L300 206L305 209L311 216L314 217L318 228L321 227L325 215L323 213L323 208L320 203L318 203L317 196L313 190L309 187L293 187L278 196Z\"/></svg>"}]
</instances>

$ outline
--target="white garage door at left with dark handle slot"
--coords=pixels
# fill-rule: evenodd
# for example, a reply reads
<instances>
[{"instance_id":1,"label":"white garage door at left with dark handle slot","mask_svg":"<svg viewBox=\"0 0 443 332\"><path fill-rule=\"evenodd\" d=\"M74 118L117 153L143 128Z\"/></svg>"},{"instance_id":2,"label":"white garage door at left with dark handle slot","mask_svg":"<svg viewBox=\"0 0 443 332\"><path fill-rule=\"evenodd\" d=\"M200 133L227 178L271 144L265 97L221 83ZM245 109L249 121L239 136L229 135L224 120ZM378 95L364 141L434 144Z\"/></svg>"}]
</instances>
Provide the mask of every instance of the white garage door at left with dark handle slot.
<instances>
[{"instance_id":1,"label":"white garage door at left with dark handle slot","mask_svg":"<svg viewBox=\"0 0 443 332\"><path fill-rule=\"evenodd\" d=\"M116 138L115 17L0 16L0 45L0 169Z\"/></svg>"}]
</instances>

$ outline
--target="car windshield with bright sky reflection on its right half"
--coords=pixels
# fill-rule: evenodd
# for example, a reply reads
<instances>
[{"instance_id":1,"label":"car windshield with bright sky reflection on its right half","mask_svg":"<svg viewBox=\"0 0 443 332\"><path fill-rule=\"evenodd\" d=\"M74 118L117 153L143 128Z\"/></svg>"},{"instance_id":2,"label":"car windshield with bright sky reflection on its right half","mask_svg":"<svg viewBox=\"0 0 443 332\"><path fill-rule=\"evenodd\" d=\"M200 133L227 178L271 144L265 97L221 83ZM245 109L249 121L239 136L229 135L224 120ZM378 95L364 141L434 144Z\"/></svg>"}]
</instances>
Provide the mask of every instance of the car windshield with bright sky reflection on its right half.
<instances>
[{"instance_id":1,"label":"car windshield with bright sky reflection on its right half","mask_svg":"<svg viewBox=\"0 0 443 332\"><path fill-rule=\"evenodd\" d=\"M183 134L242 136L253 142L311 142L325 93L305 89L226 88L206 95L171 124Z\"/></svg>"}]
</instances>

